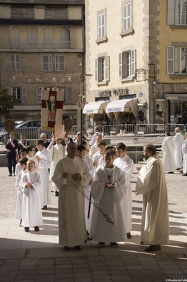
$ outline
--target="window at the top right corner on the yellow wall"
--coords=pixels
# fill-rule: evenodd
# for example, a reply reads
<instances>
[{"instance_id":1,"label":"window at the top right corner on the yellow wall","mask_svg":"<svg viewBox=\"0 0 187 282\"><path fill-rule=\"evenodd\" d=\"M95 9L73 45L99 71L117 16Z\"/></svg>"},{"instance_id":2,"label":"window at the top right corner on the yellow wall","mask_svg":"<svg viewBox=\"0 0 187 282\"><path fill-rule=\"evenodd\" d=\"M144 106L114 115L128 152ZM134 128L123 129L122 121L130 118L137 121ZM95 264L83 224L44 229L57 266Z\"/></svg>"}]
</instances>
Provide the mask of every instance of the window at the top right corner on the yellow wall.
<instances>
[{"instance_id":1,"label":"window at the top right corner on the yellow wall","mask_svg":"<svg viewBox=\"0 0 187 282\"><path fill-rule=\"evenodd\" d=\"M186 0L167 0L167 24L187 25Z\"/></svg>"}]
</instances>

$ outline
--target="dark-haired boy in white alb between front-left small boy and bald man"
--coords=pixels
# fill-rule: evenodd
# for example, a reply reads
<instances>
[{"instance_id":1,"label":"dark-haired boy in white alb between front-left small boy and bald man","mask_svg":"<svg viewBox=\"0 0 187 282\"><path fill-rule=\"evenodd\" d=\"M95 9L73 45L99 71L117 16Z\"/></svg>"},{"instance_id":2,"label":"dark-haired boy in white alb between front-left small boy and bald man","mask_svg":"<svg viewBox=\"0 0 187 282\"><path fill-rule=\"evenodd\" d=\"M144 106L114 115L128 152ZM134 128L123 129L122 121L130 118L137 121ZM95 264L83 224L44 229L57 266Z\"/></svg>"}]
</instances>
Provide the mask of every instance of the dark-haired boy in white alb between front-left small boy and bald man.
<instances>
[{"instance_id":1,"label":"dark-haired boy in white alb between front-left small boy and bald man","mask_svg":"<svg viewBox=\"0 0 187 282\"><path fill-rule=\"evenodd\" d=\"M37 158L39 162L37 171L41 178L41 207L47 209L47 205L51 204L51 191L49 188L49 168L51 167L51 154L50 152L44 147L44 141L37 140L36 142L37 153L34 157Z\"/></svg>"}]
</instances>

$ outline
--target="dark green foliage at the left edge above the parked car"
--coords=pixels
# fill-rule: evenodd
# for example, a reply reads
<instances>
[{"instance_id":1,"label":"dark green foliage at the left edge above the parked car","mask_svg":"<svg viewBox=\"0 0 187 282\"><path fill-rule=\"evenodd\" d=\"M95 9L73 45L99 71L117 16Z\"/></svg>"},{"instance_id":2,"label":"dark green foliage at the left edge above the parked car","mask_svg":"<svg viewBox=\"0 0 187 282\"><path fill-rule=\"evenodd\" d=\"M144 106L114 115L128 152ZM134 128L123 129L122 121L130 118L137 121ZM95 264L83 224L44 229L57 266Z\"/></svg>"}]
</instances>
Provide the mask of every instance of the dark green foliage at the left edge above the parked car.
<instances>
[{"instance_id":1,"label":"dark green foliage at the left edge above the parked car","mask_svg":"<svg viewBox=\"0 0 187 282\"><path fill-rule=\"evenodd\" d=\"M0 90L0 114L8 116L13 109L13 95L8 95L6 90Z\"/></svg>"}]
</instances>

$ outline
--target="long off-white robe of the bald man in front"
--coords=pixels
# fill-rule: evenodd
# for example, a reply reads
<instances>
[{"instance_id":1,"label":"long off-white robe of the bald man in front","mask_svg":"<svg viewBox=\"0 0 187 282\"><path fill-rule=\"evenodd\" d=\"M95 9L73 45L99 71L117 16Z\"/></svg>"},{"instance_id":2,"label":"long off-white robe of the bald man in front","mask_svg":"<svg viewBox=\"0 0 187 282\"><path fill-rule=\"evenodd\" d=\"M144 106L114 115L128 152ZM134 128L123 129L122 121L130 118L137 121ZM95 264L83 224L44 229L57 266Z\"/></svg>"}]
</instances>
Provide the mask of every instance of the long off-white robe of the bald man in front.
<instances>
[{"instance_id":1,"label":"long off-white robe of the bald man in front","mask_svg":"<svg viewBox=\"0 0 187 282\"><path fill-rule=\"evenodd\" d=\"M68 173L68 178L63 178L62 174L64 172ZM81 181L72 180L71 176L75 173L81 174ZM84 192L83 186L90 183L91 175L89 174L89 168L78 157L74 159L65 157L58 161L52 180L59 189L59 243L68 247L82 245L87 235L84 216L84 196L79 190Z\"/></svg>"}]
</instances>

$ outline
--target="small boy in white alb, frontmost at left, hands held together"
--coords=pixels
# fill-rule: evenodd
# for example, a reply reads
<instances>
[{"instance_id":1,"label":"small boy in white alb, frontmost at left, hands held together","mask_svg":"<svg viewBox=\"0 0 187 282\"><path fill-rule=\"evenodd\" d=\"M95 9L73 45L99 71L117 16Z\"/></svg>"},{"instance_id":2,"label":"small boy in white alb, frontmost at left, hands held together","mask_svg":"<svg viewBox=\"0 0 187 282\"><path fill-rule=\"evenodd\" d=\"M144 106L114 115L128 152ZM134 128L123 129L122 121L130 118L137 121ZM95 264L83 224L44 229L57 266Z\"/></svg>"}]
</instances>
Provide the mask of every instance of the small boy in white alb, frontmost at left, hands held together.
<instances>
[{"instance_id":1,"label":"small boy in white alb, frontmost at left, hands held together","mask_svg":"<svg viewBox=\"0 0 187 282\"><path fill-rule=\"evenodd\" d=\"M22 190L22 226L25 232L39 231L39 226L43 225L41 213L40 189L41 180L39 173L35 171L34 161L27 161L27 173L22 174L20 180Z\"/></svg>"}]
</instances>

